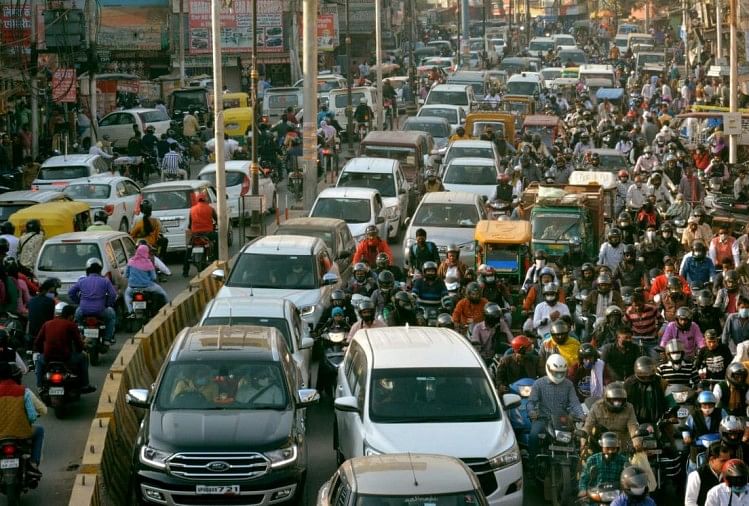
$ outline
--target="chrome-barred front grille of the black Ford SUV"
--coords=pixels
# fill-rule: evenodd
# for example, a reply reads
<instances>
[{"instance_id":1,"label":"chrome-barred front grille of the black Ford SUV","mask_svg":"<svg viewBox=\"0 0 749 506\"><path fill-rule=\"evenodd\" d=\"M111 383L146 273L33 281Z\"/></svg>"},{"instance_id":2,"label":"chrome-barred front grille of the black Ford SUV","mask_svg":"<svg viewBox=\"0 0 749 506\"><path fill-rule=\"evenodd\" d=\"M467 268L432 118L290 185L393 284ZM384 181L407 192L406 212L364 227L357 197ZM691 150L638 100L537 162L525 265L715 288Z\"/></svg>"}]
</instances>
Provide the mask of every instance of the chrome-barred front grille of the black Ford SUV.
<instances>
[{"instance_id":1,"label":"chrome-barred front grille of the black Ford SUV","mask_svg":"<svg viewBox=\"0 0 749 506\"><path fill-rule=\"evenodd\" d=\"M270 462L260 453L178 453L167 466L190 480L249 480L267 473Z\"/></svg>"}]
</instances>

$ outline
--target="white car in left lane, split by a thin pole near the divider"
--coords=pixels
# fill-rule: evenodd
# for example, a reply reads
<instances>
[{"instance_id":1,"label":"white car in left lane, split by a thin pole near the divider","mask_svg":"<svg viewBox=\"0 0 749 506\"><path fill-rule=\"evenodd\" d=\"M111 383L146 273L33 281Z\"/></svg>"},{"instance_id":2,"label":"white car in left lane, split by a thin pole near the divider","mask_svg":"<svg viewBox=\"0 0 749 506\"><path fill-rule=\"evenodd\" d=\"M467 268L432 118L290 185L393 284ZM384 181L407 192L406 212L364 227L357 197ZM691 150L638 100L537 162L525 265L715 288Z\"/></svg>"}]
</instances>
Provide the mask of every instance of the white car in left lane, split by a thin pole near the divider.
<instances>
[{"instance_id":1,"label":"white car in left lane, split by a thin pole near the divider","mask_svg":"<svg viewBox=\"0 0 749 506\"><path fill-rule=\"evenodd\" d=\"M249 160L230 160L225 162L226 194L229 198L229 216L238 219L242 210L242 197L252 194L252 162ZM209 163L198 173L198 179L216 185L216 164ZM276 185L269 177L258 176L258 194L263 197L261 212L275 211L278 207ZM249 211L249 202L244 206L245 213Z\"/></svg>"}]
</instances>

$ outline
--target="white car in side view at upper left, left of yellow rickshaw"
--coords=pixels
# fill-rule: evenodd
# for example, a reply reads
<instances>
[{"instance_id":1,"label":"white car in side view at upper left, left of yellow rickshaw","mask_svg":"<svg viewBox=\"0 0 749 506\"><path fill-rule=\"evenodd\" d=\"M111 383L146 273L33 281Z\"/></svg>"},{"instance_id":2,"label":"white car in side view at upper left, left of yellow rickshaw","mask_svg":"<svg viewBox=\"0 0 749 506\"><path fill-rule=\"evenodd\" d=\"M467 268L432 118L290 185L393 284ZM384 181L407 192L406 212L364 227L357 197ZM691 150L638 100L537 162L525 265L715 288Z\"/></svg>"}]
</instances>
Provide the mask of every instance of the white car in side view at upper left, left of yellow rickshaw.
<instances>
[{"instance_id":1,"label":"white car in side view at upper left, left of yellow rickshaw","mask_svg":"<svg viewBox=\"0 0 749 506\"><path fill-rule=\"evenodd\" d=\"M113 111L104 116L99 121L98 135L99 138L108 135L112 148L124 150L127 148L127 142L133 136L133 126L137 126L141 134L146 133L146 127L152 126L155 130L154 135L156 135L156 138L160 138L161 134L167 133L170 123L169 115L159 109L136 107ZM81 139L84 148L91 146L90 128L83 132Z\"/></svg>"}]
</instances>

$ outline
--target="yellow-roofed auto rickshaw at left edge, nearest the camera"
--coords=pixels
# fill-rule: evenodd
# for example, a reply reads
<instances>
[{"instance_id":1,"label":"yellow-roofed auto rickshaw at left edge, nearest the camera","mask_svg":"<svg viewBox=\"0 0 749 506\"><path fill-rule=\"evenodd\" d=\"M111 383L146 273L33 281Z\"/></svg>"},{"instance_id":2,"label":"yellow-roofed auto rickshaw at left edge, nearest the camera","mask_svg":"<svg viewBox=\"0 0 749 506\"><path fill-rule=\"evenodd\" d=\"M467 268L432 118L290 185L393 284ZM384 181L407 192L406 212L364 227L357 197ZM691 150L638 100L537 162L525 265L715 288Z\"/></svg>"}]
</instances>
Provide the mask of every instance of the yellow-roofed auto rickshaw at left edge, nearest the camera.
<instances>
[{"instance_id":1,"label":"yellow-roofed auto rickshaw at left edge, nearest the camera","mask_svg":"<svg viewBox=\"0 0 749 506\"><path fill-rule=\"evenodd\" d=\"M92 223L91 206L77 201L45 202L11 214L8 221L16 228L15 235L21 237L26 222L33 219L41 223L46 239L68 232L85 232Z\"/></svg>"}]
</instances>

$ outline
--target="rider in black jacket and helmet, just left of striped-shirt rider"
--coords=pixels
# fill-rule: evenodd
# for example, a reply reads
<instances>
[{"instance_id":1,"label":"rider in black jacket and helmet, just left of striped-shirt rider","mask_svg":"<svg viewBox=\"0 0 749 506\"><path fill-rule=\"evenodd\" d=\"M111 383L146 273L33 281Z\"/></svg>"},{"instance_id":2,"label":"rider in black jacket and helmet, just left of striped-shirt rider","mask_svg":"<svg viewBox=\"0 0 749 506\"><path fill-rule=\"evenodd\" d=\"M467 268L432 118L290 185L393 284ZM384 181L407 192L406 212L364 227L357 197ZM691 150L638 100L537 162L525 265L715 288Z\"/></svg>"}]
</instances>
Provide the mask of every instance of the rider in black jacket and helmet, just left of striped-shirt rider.
<instances>
[{"instance_id":1,"label":"rider in black jacket and helmet, just left of striped-shirt rider","mask_svg":"<svg viewBox=\"0 0 749 506\"><path fill-rule=\"evenodd\" d=\"M627 398L640 423L655 424L667 409L663 380L656 372L655 360L639 357L635 360L634 376L624 380Z\"/></svg>"}]
</instances>

